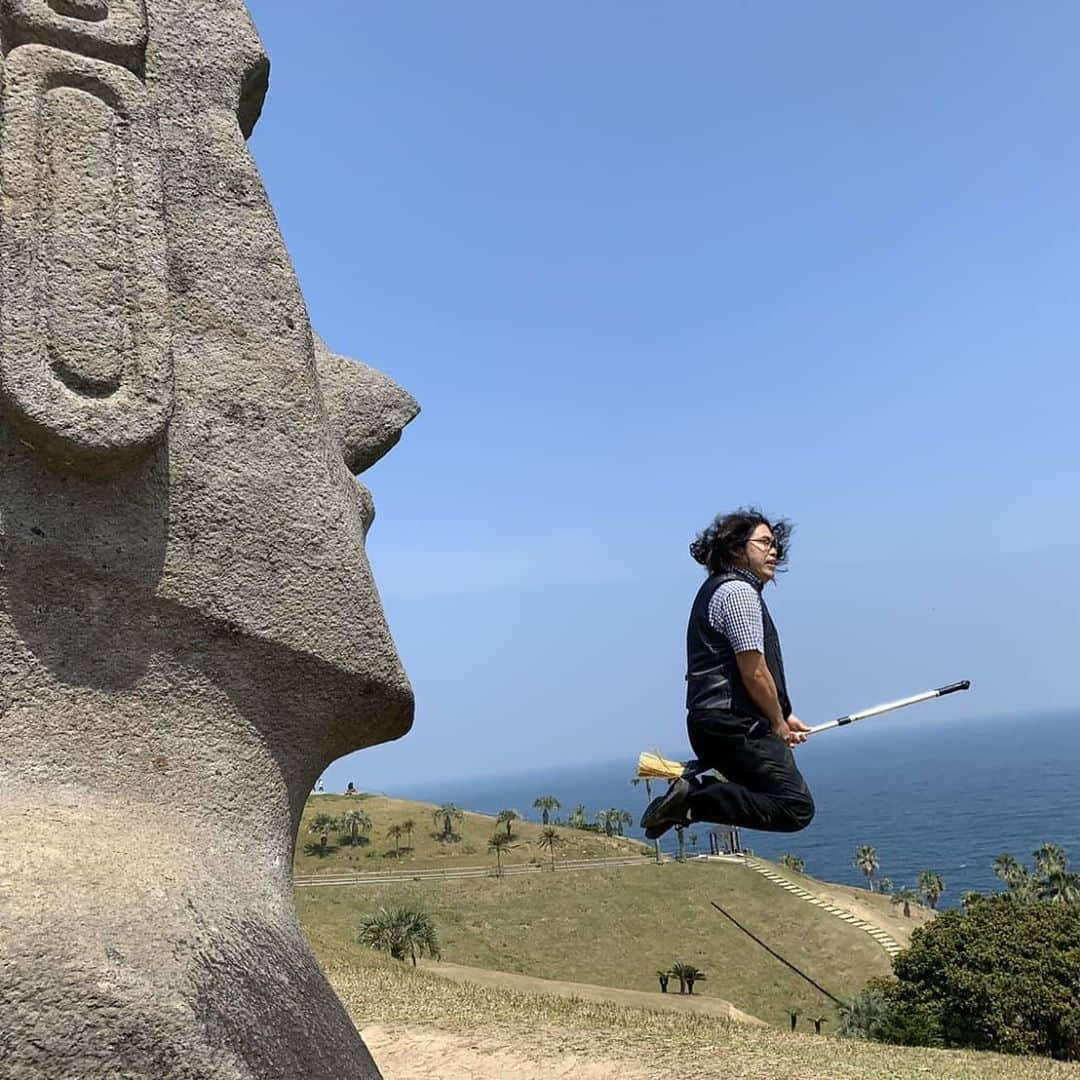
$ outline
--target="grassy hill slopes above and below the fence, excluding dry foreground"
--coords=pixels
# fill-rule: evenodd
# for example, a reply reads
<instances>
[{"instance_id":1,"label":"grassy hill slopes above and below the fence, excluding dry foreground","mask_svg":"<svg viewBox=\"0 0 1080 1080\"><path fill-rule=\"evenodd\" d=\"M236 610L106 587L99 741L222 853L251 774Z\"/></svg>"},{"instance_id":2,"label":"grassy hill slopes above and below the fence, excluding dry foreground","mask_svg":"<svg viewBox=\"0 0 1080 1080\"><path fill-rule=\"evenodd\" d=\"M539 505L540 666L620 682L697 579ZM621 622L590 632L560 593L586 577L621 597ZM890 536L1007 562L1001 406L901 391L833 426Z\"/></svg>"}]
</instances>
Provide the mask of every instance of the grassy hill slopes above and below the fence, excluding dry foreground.
<instances>
[{"instance_id":1,"label":"grassy hill slopes above and below the fence, excluding dry foreground","mask_svg":"<svg viewBox=\"0 0 1080 1080\"><path fill-rule=\"evenodd\" d=\"M494 866L487 841L494 819L468 814L460 839L441 841L433 806L386 797L356 800L318 796L305 813L305 831L318 813L340 814L354 806L375 823L372 840L320 858L300 851L298 874L328 870L402 869L455 865ZM394 854L386 829L411 819L414 840ZM502 827L502 826L500 826ZM402 879L363 887L298 890L297 905L323 956L353 955L356 927L380 905L408 903L426 909L438 928L447 961L496 971L631 990L659 991L657 971L676 960L706 973L696 994L715 996L771 1024L787 1023L787 1010L827 1016L833 1003L724 919L716 901L793 964L843 999L873 975L891 970L887 954L855 930L798 900L741 864L690 861L657 865L651 850L634 840L561 828L558 856L603 859L639 853L640 865L555 872L536 843L541 826L515 822L508 863L538 862L545 869L522 877L467 880ZM318 841L305 832L301 839ZM800 878L807 888L814 882ZM874 921L894 936L906 928L885 897L862 897Z\"/></svg>"}]
</instances>

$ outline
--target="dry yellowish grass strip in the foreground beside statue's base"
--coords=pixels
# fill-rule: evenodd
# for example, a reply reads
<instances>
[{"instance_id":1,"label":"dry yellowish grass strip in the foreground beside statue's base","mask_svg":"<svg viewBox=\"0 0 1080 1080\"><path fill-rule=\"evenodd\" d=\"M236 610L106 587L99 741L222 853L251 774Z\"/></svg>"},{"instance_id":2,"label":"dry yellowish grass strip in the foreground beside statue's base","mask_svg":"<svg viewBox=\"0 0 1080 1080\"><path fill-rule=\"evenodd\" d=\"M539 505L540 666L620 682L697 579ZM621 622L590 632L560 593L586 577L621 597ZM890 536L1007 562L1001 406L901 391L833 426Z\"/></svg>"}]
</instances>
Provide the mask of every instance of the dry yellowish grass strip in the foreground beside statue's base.
<instances>
[{"instance_id":1,"label":"dry yellowish grass strip in the foreground beside statue's base","mask_svg":"<svg viewBox=\"0 0 1080 1080\"><path fill-rule=\"evenodd\" d=\"M1080 1066L1045 1058L789 1035L707 1016L458 985L366 951L337 960L324 953L323 959L379 1064L404 1063L400 1071L386 1071L390 1080L507 1080L508 1062L515 1077L528 1078L1080 1080ZM430 1061L433 1044L442 1055L436 1064L418 1065L426 1053ZM465 1049L474 1053L461 1053ZM576 1059L572 1068L567 1054Z\"/></svg>"}]
</instances>

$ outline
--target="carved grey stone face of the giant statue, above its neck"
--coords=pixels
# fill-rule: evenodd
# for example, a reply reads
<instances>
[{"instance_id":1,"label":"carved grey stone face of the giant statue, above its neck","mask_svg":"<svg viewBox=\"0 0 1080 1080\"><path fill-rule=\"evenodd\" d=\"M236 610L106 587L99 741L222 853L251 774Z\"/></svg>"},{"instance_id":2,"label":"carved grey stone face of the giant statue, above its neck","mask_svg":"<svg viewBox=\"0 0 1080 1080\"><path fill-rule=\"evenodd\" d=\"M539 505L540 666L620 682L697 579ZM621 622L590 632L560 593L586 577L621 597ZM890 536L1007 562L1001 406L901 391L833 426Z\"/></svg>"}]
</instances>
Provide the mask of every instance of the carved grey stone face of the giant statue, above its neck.
<instances>
[{"instance_id":1,"label":"carved grey stone face of the giant statue, above its neck","mask_svg":"<svg viewBox=\"0 0 1080 1080\"><path fill-rule=\"evenodd\" d=\"M12 565L75 561L351 679L351 730L309 717L336 753L403 733L352 473L417 406L313 339L244 140L267 62L243 3L10 0L2 33Z\"/></svg>"}]
</instances>

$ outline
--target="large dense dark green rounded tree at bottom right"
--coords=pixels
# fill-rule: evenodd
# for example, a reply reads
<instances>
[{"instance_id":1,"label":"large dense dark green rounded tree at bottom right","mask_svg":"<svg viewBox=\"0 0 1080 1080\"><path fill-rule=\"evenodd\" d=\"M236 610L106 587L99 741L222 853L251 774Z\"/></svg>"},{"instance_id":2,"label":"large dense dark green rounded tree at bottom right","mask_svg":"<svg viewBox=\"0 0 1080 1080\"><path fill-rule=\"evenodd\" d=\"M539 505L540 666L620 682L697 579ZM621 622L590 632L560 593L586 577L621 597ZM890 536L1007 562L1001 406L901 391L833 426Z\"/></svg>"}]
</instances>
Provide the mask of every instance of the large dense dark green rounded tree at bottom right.
<instances>
[{"instance_id":1,"label":"large dense dark green rounded tree at bottom right","mask_svg":"<svg viewBox=\"0 0 1080 1080\"><path fill-rule=\"evenodd\" d=\"M878 1038L1080 1059L1080 905L984 895L912 934L877 980Z\"/></svg>"}]
</instances>

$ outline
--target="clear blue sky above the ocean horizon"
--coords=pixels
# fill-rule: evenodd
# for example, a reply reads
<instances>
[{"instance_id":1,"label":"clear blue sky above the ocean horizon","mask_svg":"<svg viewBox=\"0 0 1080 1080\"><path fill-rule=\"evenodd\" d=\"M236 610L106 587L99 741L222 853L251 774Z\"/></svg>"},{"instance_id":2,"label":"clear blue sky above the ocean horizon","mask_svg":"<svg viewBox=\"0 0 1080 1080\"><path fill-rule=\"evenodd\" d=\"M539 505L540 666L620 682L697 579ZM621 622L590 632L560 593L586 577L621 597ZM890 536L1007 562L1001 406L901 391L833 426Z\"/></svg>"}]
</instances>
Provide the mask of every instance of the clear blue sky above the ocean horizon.
<instances>
[{"instance_id":1,"label":"clear blue sky above the ocean horizon","mask_svg":"<svg viewBox=\"0 0 1080 1080\"><path fill-rule=\"evenodd\" d=\"M679 753L747 502L804 719L1080 703L1080 9L249 6L312 321L423 406L364 477L416 725L332 786Z\"/></svg>"}]
</instances>

